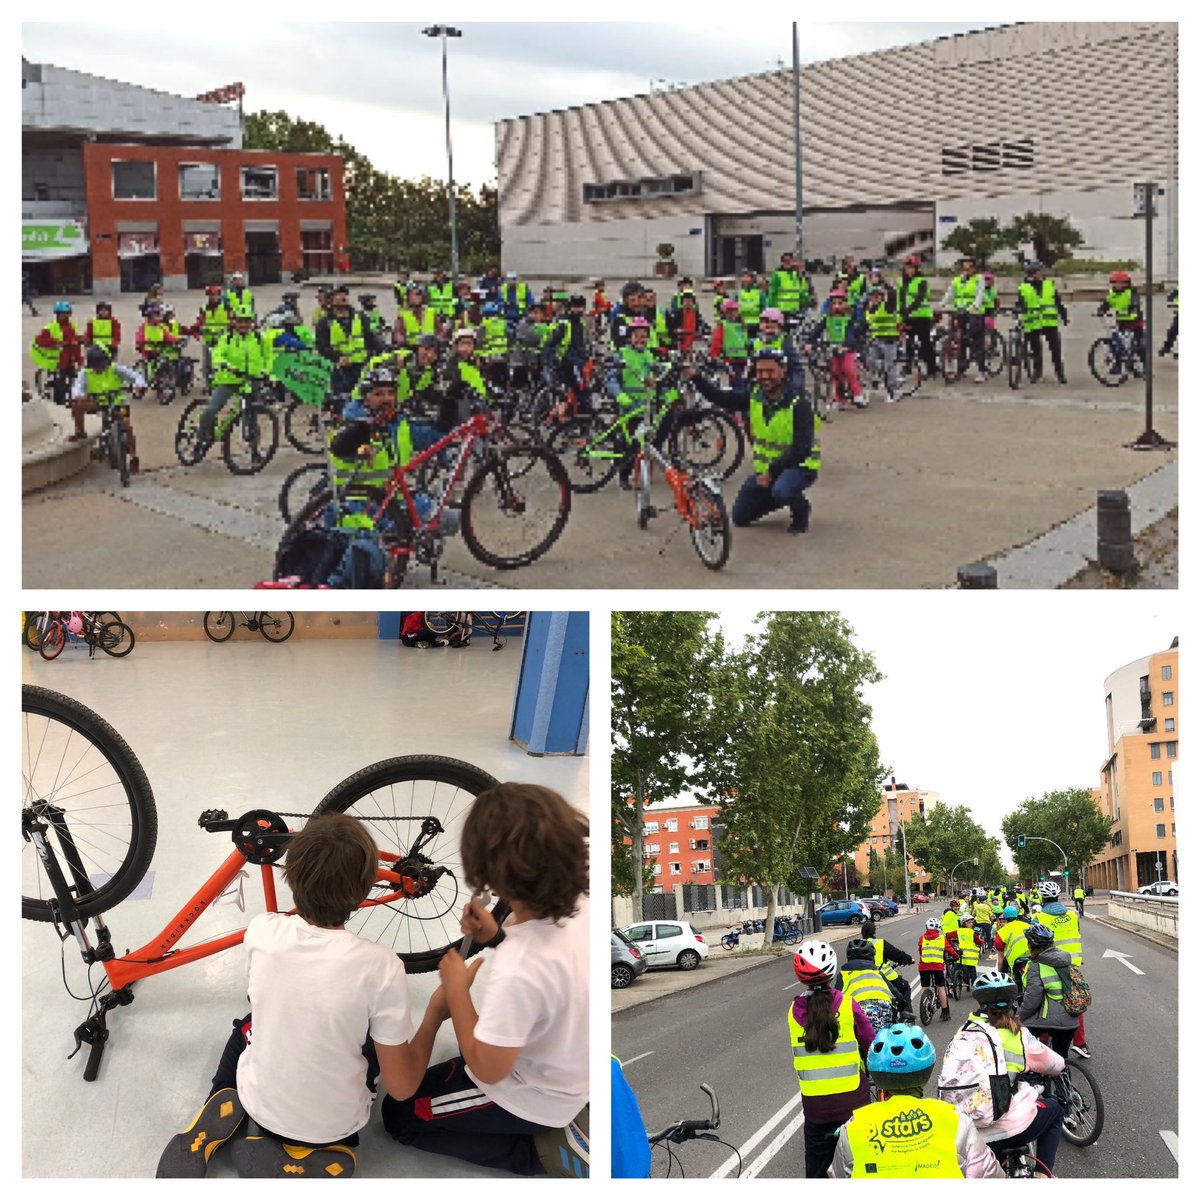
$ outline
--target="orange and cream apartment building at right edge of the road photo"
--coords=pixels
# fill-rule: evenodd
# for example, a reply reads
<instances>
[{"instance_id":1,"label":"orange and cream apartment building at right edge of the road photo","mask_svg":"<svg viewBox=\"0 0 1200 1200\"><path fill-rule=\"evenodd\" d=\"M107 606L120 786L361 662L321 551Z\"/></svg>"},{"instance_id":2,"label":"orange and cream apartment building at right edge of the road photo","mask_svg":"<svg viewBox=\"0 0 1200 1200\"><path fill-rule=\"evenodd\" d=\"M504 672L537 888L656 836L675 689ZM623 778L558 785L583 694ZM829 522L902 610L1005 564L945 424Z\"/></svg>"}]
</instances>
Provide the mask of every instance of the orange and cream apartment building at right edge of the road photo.
<instances>
[{"instance_id":1,"label":"orange and cream apartment building at right edge of the road photo","mask_svg":"<svg viewBox=\"0 0 1200 1200\"><path fill-rule=\"evenodd\" d=\"M1178 882L1175 767L1180 752L1180 648L1126 664L1104 680L1108 757L1093 793L1112 826L1085 869L1091 887L1136 892Z\"/></svg>"}]
</instances>

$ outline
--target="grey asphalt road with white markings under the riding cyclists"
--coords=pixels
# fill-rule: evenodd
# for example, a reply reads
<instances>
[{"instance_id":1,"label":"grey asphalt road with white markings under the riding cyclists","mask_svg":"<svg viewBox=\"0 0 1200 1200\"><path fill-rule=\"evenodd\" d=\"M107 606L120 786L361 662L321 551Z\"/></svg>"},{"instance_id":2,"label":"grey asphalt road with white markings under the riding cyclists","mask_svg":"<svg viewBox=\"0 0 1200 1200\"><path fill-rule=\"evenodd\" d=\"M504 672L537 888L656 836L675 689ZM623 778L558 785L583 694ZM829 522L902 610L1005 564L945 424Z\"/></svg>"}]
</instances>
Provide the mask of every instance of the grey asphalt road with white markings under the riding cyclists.
<instances>
[{"instance_id":1,"label":"grey asphalt road with white markings under the riding cyclists","mask_svg":"<svg viewBox=\"0 0 1200 1200\"><path fill-rule=\"evenodd\" d=\"M924 920L924 914L893 917L880 931L916 956ZM1104 958L1106 949L1127 955L1142 973ZM1084 967L1093 997L1086 1019L1088 1067L1103 1091L1105 1123L1087 1148L1062 1144L1056 1174L1176 1177L1178 958L1136 935L1085 920ZM697 974L703 971L702 965ZM916 968L905 974L914 976ZM614 1014L613 1054L624 1064L648 1129L680 1117L707 1117L700 1085L716 1090L720 1136L728 1145L692 1141L678 1147L689 1177L736 1174L734 1150L743 1176L804 1176L803 1112L787 1045L786 1014L796 990L791 960L784 958ZM967 1000L952 1001L950 1010L949 1022L935 1019L929 1028L940 1052L966 1019ZM666 1169L665 1152L655 1151L653 1174Z\"/></svg>"}]
</instances>

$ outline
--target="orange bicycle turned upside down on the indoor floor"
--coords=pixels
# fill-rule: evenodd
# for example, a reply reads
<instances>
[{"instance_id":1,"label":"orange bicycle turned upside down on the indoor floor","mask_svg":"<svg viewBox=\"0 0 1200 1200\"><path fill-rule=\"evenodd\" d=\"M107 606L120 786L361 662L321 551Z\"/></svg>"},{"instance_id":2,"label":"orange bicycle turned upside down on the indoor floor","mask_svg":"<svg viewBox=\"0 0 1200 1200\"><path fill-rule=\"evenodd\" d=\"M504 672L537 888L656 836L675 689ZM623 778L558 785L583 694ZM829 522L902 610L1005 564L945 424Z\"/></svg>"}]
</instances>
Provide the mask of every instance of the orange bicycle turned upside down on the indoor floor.
<instances>
[{"instance_id":1,"label":"orange bicycle turned upside down on the indoor floor","mask_svg":"<svg viewBox=\"0 0 1200 1200\"><path fill-rule=\"evenodd\" d=\"M456 758L409 755L355 772L312 812L256 809L233 820L221 810L202 812L199 827L229 834L233 851L161 932L139 949L116 954L104 914L137 888L154 858L158 822L150 781L125 739L78 701L26 684L22 710L20 914L52 923L64 946L73 935L89 980L97 964L104 972L98 985L89 982L88 1018L74 1031L70 1056L90 1046L85 1081L100 1070L108 1014L133 1002L136 983L242 942L245 929L180 944L221 896L235 892L240 899L247 866L260 870L266 911L280 911L274 866L294 833L288 817L346 812L371 822L380 847L374 892L347 928L390 946L407 972L437 970L450 948L464 956L481 948L450 936L468 895L460 884L458 842L470 805L497 781ZM412 838L401 832L413 826ZM497 900L491 912L503 922L509 907Z\"/></svg>"}]
</instances>

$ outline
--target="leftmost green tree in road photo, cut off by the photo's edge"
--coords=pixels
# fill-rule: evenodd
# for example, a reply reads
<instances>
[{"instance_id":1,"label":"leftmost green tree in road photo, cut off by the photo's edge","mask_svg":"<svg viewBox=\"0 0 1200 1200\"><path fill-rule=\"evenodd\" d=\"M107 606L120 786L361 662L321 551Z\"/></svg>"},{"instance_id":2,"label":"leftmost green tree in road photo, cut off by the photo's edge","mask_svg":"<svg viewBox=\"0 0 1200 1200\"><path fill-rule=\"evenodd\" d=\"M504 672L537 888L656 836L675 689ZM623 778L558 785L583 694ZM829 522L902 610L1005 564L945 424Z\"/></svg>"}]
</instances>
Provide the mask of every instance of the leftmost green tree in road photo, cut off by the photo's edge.
<instances>
[{"instance_id":1,"label":"leftmost green tree in road photo, cut off by the photo's edge","mask_svg":"<svg viewBox=\"0 0 1200 1200\"><path fill-rule=\"evenodd\" d=\"M638 920L646 805L678 796L707 751L709 677L722 647L708 630L714 616L612 614L612 878L614 892L634 896Z\"/></svg>"}]
</instances>

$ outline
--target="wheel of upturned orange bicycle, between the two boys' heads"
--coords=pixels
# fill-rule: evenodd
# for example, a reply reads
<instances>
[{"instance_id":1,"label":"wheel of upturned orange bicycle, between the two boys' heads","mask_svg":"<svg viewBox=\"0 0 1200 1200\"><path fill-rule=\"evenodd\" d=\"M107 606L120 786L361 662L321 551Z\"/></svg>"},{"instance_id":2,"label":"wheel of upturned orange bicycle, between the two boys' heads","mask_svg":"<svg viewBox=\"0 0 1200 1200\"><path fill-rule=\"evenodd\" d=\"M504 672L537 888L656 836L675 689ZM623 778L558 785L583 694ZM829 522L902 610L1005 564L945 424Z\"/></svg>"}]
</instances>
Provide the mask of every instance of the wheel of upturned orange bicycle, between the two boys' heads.
<instances>
[{"instance_id":1,"label":"wheel of upturned orange bicycle, between the two boys' heads","mask_svg":"<svg viewBox=\"0 0 1200 1200\"><path fill-rule=\"evenodd\" d=\"M470 763L433 755L386 758L342 780L313 816L346 812L366 822L376 845L397 856L390 869L404 877L409 893L403 900L360 908L346 928L391 947L410 973L437 970L442 955L462 942L458 922L470 899L460 850L463 822L475 797L496 784ZM428 817L437 820L440 832L422 839L413 854L410 847ZM377 888L396 890L394 884ZM508 911L497 901L492 916L503 920ZM478 950L475 946L472 953Z\"/></svg>"}]
</instances>

